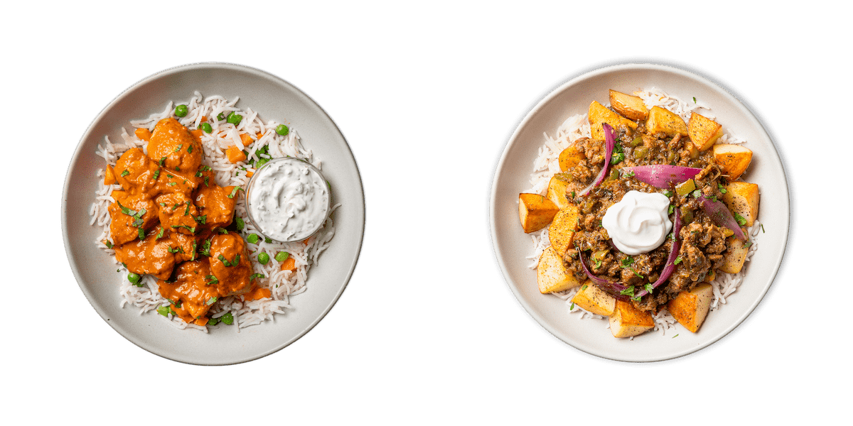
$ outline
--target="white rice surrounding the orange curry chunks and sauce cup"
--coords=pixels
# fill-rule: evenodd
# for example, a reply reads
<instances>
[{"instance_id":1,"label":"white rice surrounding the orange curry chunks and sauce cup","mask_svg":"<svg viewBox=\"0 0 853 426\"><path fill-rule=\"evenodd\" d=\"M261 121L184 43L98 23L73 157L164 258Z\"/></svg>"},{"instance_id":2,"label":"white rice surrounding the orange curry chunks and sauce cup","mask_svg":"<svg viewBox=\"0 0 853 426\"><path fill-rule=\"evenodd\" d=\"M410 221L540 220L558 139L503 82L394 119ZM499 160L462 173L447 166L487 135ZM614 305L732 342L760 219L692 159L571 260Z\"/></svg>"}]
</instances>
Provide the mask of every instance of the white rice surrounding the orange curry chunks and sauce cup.
<instances>
[{"instance_id":1,"label":"white rice surrounding the orange curry chunks and sauce cup","mask_svg":"<svg viewBox=\"0 0 853 426\"><path fill-rule=\"evenodd\" d=\"M322 170L322 161L320 158L315 158L314 154L303 147L299 139L299 133L293 127L287 135L279 135L276 133L276 127L281 124L274 120L267 122L258 118L258 112L252 111L251 108L236 107L239 98L227 100L222 96L214 95L206 99L202 98L198 91L194 92L189 101L174 102L168 101L166 107L161 112L151 114L148 118L131 120L130 124L135 129L144 128L154 130L154 126L162 118L175 118L187 126L189 130L195 130L201 123L201 118L206 117L207 123L211 124L212 132L210 134L202 133L201 142L204 148L205 164L210 166L215 173L215 181L220 187L247 187L249 177L247 171L254 172L252 167L245 165L245 162L232 164L225 155L225 149L241 144L241 133L248 133L253 140L250 147L247 147L247 161L258 159L260 156L257 151L264 145L268 145L269 155L264 155L266 158L278 158L284 156L303 158L310 164L314 164L318 169ZM176 105L186 105L189 112L183 117L177 117L173 114ZM239 113L243 119L236 126L229 124L226 121L218 120L218 114L222 112L223 116L227 116L229 112ZM257 134L262 136L257 138ZM137 138L133 133L128 133L124 128L121 133L121 141L110 141L109 136L105 136L104 143L96 148L96 155L104 158L105 169L97 170L96 177L99 177L100 187L96 191L95 200L90 209L90 224L92 226L101 227L102 233L95 239L94 243L102 248L108 255L112 256L115 261L115 250L110 249L104 244L104 241L112 239L109 233L110 216L107 208L115 200L110 196L114 189L120 189L120 185L104 185L103 177L105 176L106 164L115 165L116 160L121 157L131 147L142 149L147 154L146 147L148 142ZM261 154L263 155L263 154ZM245 222L245 227L242 230L243 235L249 233L258 233L258 230L252 227L248 221L247 209L244 197L238 197L235 205L235 216L240 216ZM332 206L332 213L328 216L323 227L314 236L308 240L308 244L298 243L267 243L264 239L260 239L257 244L247 242L248 250L252 253L252 267L255 273L263 273L263 279L256 279L258 286L270 289L271 297L243 302L241 296L223 297L218 302L215 302L210 313L212 318L219 318L224 314L231 313L234 316L234 323L237 325L236 330L245 328L250 325L258 325L267 320L274 320L275 314L284 314L287 308L291 308L290 297L303 293L307 290L306 280L310 268L316 267L319 264L319 256L322 251L328 248L330 240L334 236L334 210L337 210L340 204ZM258 254L266 252L270 255L270 261L266 265L258 262ZM276 261L275 256L280 251L287 251L293 257L296 270L281 270L281 262ZM122 268L119 262L116 262L117 268ZM151 275L143 275L140 281L141 286L132 285L127 279L126 274L122 274L122 278L118 285L119 295L121 296L120 306L134 306L139 309L139 314L145 314L148 311L156 310L160 306L168 306L169 302L160 296L158 290L157 279ZM160 315L158 315L160 316ZM163 317L167 318L167 317ZM208 326L200 326L188 324L177 316L169 315L168 322L178 328L194 329L208 332ZM220 325L212 325L216 328Z\"/></svg>"}]
</instances>

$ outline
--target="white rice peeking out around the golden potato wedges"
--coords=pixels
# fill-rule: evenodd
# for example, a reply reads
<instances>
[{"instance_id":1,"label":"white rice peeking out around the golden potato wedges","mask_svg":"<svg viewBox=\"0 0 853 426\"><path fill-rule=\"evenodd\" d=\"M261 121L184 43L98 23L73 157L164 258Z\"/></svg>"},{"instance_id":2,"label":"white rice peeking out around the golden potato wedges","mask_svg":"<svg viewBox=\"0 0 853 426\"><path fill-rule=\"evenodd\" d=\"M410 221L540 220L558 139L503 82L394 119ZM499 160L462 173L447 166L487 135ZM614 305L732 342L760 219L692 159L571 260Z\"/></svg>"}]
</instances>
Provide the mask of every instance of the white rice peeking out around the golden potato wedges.
<instances>
[{"instance_id":1,"label":"white rice peeking out around the golden potato wedges","mask_svg":"<svg viewBox=\"0 0 853 426\"><path fill-rule=\"evenodd\" d=\"M700 100L691 100L692 102L683 101L682 99L674 95L667 94L658 88L638 90L634 92L634 95L639 96L643 102L646 103L647 107L664 107L671 112L678 114L685 122L688 122L690 119L690 113L694 111L701 113L707 118L714 118L711 112L711 107L705 105ZM605 106L609 107L609 105ZM558 160L560 153L566 149L566 147L569 147L573 141L582 136L590 136L589 120L585 113L572 115L571 117L566 118L566 120L557 127L553 136L545 133L543 146L539 148L537 158L533 161L533 171L531 172L529 181L530 187L523 192L547 195L548 182L554 174L561 171ZM727 133L723 134L716 143L740 144L744 142L745 141L743 139L728 134L727 130ZM750 235L751 245L748 253L746 254L746 262L750 261L752 254L755 253L755 250L758 248L757 237L759 231L762 231L762 227L761 223L757 220L754 221L753 225L747 230ZM530 268L536 269L539 257L542 256L543 251L551 245L548 240L548 227L544 227L542 230L530 233L529 235L531 237L531 251L526 258L531 261ZM747 269L748 263L745 263L739 273L717 273L717 277L711 282L711 287L713 288L711 311L722 308L722 305L726 303L726 298L731 296L734 291L737 291ZM577 287L567 291L550 293L550 295L559 297L565 301L566 306L568 307L567 312L569 314L574 314L578 320L606 320L607 317L592 314L572 303L572 296L574 296L575 293L577 293ZM666 331L674 330L677 323L676 319L673 318L665 308L661 309L658 314L653 315L653 320L655 322L654 330L659 331L661 335L664 335ZM609 321L605 322L606 327L609 328Z\"/></svg>"}]
</instances>

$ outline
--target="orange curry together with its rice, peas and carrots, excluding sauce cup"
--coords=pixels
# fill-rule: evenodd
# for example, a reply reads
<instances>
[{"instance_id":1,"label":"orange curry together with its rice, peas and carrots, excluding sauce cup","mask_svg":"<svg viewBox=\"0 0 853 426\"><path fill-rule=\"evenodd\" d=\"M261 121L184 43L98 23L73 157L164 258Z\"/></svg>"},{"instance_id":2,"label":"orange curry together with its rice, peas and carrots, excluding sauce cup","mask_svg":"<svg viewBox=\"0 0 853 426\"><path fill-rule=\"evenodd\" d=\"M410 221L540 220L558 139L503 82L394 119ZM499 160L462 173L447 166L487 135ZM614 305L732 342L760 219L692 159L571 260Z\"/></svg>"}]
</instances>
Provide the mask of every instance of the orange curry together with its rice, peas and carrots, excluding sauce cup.
<instances>
[{"instance_id":1,"label":"orange curry together with its rice, peas and carrots, excluding sauce cup","mask_svg":"<svg viewBox=\"0 0 853 426\"><path fill-rule=\"evenodd\" d=\"M107 164L92 223L103 228L96 245L126 270L122 306L154 310L179 328L239 329L284 313L289 297L306 290L309 268L334 235L332 217L310 240L272 241L247 221L243 192L270 158L320 162L292 127L264 123L236 101L202 101L195 92L131 121L136 130L123 131L124 143L107 137L99 146Z\"/></svg>"}]
</instances>

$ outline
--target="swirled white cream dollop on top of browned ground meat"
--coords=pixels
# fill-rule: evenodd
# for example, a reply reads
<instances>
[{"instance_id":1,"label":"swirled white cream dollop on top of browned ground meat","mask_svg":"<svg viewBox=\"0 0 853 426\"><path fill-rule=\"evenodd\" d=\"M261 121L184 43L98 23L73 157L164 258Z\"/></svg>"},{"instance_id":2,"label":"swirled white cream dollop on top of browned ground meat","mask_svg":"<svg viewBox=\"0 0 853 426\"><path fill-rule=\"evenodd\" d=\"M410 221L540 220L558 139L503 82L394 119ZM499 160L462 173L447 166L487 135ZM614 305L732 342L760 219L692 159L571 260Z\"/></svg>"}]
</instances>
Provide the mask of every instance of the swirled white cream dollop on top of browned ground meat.
<instances>
[{"instance_id":1,"label":"swirled white cream dollop on top of browned ground meat","mask_svg":"<svg viewBox=\"0 0 853 426\"><path fill-rule=\"evenodd\" d=\"M664 243L672 229L670 199L662 193L629 191L607 208L601 226L620 251L639 255Z\"/></svg>"}]
</instances>

